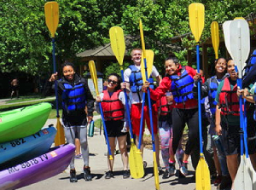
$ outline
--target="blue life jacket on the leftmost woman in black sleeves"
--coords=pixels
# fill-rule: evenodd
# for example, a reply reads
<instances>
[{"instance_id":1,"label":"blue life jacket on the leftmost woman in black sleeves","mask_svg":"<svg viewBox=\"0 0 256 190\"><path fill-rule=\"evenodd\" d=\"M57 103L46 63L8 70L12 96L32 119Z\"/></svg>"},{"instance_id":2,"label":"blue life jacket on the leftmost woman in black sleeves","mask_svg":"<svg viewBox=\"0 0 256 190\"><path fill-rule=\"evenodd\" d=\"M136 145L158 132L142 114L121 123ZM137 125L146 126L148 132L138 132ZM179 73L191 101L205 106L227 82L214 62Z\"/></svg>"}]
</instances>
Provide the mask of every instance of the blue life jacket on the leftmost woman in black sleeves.
<instances>
[{"instance_id":1,"label":"blue life jacket on the leftmost woman in black sleeves","mask_svg":"<svg viewBox=\"0 0 256 190\"><path fill-rule=\"evenodd\" d=\"M74 84L63 79L59 80L59 83L62 89L62 109L66 112L73 112L81 109L83 110L86 103L84 78L80 78L79 81L75 82Z\"/></svg>"}]
</instances>

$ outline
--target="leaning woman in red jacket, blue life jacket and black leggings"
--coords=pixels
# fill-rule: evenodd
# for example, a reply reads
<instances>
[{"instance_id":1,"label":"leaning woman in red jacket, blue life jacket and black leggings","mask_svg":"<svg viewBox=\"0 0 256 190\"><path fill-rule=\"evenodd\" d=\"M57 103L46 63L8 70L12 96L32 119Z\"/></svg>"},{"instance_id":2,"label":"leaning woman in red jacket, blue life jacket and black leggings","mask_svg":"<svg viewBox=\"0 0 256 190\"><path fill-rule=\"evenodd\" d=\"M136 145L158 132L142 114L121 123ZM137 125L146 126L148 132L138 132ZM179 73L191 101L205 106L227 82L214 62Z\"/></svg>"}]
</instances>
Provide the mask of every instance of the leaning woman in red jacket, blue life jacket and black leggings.
<instances>
[{"instance_id":1,"label":"leaning woman in red jacket, blue life jacket and black leggings","mask_svg":"<svg viewBox=\"0 0 256 190\"><path fill-rule=\"evenodd\" d=\"M169 56L166 58L167 76L162 79L159 87L155 90L150 89L150 97L157 101L166 91L172 91L172 151L170 155L170 168L175 170L174 153L177 151L179 141L183 135L185 124L189 128L189 141L186 144L186 150L183 156L183 162L180 172L183 176L188 175L188 159L189 155L195 149L199 149L199 132L198 132L198 102L193 95L193 85L196 72L190 66L181 66L177 57ZM147 92L149 83L143 85L143 91Z\"/></svg>"}]
</instances>

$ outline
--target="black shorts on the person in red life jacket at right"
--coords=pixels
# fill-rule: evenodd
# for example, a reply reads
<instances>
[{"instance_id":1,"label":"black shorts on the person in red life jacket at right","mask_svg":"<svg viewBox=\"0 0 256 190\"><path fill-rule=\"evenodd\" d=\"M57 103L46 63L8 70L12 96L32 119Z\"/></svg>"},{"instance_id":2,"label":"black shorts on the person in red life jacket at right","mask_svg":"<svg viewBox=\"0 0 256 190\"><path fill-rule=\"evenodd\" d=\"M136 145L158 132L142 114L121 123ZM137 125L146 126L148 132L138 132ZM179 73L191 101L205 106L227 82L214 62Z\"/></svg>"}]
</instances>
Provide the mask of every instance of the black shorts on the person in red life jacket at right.
<instances>
[{"instance_id":1,"label":"black shorts on the person in red life jacket at right","mask_svg":"<svg viewBox=\"0 0 256 190\"><path fill-rule=\"evenodd\" d=\"M222 125L222 135L220 140L224 147L225 155L240 154L240 127L239 126L226 126Z\"/></svg>"}]
</instances>

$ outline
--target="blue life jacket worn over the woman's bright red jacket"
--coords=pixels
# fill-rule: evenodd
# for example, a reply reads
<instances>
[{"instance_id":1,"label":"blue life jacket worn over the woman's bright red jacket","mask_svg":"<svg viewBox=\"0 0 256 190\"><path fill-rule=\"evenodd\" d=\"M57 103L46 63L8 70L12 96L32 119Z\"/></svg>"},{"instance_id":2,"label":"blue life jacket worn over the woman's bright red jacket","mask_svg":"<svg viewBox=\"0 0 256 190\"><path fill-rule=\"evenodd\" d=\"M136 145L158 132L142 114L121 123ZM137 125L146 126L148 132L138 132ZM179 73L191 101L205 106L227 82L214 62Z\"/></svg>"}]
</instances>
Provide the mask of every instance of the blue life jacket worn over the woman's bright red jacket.
<instances>
[{"instance_id":1,"label":"blue life jacket worn over the woman's bright red jacket","mask_svg":"<svg viewBox=\"0 0 256 190\"><path fill-rule=\"evenodd\" d=\"M181 103L194 99L193 86L194 79L189 75L185 66L182 67L181 76L171 75L172 80L171 91L176 103Z\"/></svg>"}]
</instances>

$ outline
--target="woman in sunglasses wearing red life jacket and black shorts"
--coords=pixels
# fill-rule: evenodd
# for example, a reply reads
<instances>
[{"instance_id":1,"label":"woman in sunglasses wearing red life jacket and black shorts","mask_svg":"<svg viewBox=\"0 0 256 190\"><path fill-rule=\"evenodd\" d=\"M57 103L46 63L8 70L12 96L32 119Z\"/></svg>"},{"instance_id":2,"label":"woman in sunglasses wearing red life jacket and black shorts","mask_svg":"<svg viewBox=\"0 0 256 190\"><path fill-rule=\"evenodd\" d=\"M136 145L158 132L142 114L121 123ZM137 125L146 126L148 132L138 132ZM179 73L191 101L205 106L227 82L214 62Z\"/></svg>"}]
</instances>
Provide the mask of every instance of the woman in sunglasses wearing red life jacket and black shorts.
<instances>
[{"instance_id":1,"label":"woman in sunglasses wearing red life jacket and black shorts","mask_svg":"<svg viewBox=\"0 0 256 190\"><path fill-rule=\"evenodd\" d=\"M115 150L115 140L117 138L119 143L119 151L123 161L124 171L123 178L130 177L130 171L128 170L128 154L126 149L126 114L125 114L125 95L121 90L120 85L121 78L118 74L112 73L108 76L107 89L103 90L100 96L96 98L97 102L102 102L102 111L104 115L104 121L108 133L108 141L111 149L113 159L108 157L108 172L105 178L110 179L113 177L113 160ZM122 83L122 89L125 88L125 83ZM100 112L97 105L97 112ZM108 153L109 155L109 153Z\"/></svg>"}]
</instances>

